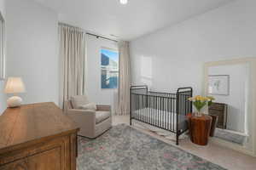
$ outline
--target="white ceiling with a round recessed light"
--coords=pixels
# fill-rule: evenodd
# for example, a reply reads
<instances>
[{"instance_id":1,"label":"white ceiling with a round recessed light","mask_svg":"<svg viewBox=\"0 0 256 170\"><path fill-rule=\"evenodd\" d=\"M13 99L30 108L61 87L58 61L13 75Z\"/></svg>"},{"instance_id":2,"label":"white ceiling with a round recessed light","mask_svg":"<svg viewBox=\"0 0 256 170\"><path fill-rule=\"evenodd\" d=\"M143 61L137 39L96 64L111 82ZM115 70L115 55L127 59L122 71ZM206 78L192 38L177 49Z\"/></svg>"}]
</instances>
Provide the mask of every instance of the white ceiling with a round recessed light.
<instances>
[{"instance_id":1,"label":"white ceiling with a round recessed light","mask_svg":"<svg viewBox=\"0 0 256 170\"><path fill-rule=\"evenodd\" d=\"M106 37L132 40L233 0L35 0L59 20Z\"/></svg>"}]
</instances>

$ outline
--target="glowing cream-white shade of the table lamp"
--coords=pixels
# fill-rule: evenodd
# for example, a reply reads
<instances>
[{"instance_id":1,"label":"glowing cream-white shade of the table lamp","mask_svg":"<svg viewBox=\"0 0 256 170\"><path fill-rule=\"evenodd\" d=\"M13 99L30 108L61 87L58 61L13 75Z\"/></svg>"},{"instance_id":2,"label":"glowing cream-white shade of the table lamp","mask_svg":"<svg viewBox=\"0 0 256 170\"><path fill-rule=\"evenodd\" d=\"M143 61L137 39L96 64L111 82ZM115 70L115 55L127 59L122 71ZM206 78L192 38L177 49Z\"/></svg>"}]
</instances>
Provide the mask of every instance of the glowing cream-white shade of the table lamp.
<instances>
[{"instance_id":1,"label":"glowing cream-white shade of the table lamp","mask_svg":"<svg viewBox=\"0 0 256 170\"><path fill-rule=\"evenodd\" d=\"M25 92L25 86L20 77L9 77L4 93L5 94L20 94Z\"/></svg>"}]
</instances>

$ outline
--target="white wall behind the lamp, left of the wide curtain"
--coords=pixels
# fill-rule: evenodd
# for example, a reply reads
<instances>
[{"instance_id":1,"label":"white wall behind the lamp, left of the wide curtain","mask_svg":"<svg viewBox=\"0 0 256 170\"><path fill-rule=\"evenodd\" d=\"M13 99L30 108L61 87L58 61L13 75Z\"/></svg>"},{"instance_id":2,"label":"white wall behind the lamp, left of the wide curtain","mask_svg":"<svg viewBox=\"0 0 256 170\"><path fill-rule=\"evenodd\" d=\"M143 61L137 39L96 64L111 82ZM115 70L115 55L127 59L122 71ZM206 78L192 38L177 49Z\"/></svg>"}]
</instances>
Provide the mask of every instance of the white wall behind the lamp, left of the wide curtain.
<instances>
[{"instance_id":1,"label":"white wall behind the lamp, left of the wide curtain","mask_svg":"<svg viewBox=\"0 0 256 170\"><path fill-rule=\"evenodd\" d=\"M57 14L32 0L8 0L7 74L22 77L24 103L59 99Z\"/></svg>"}]
</instances>

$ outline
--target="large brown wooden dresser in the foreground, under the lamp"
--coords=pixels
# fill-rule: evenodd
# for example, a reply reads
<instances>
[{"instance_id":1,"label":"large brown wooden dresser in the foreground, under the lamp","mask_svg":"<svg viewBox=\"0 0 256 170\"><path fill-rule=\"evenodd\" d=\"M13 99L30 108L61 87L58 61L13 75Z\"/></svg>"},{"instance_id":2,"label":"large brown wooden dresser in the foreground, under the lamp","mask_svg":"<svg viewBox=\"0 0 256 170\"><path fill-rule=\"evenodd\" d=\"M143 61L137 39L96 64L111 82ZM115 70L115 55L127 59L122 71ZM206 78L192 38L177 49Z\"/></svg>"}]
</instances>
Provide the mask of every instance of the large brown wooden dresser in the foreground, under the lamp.
<instances>
[{"instance_id":1,"label":"large brown wooden dresser in the foreground, under the lamp","mask_svg":"<svg viewBox=\"0 0 256 170\"><path fill-rule=\"evenodd\" d=\"M75 170L79 128L54 103L0 116L0 170Z\"/></svg>"}]
</instances>

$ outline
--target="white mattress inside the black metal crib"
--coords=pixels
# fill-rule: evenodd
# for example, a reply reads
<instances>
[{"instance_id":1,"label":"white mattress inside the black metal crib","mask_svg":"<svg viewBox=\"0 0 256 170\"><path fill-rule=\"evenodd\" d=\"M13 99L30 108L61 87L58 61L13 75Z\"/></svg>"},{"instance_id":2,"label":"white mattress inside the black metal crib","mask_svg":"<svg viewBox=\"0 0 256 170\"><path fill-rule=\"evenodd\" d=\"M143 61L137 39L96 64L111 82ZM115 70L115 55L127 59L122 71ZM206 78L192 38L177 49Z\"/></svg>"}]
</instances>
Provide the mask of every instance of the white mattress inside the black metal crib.
<instances>
[{"instance_id":1,"label":"white mattress inside the black metal crib","mask_svg":"<svg viewBox=\"0 0 256 170\"><path fill-rule=\"evenodd\" d=\"M167 130L177 132L178 129L183 130L187 127L186 116L178 115L175 112L156 110L153 108L143 108L132 112L132 117L138 121L150 123L154 126L163 127Z\"/></svg>"}]
</instances>

